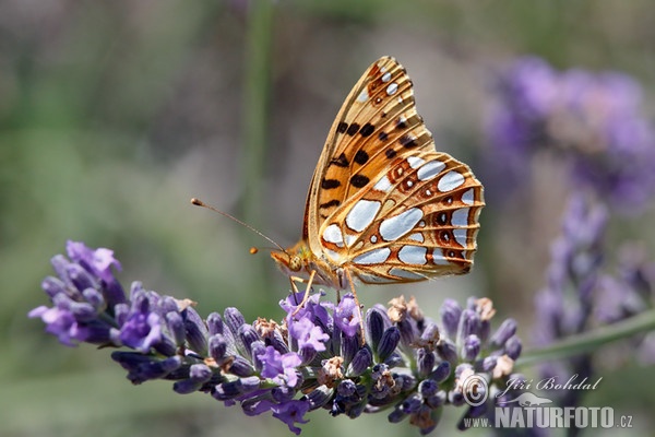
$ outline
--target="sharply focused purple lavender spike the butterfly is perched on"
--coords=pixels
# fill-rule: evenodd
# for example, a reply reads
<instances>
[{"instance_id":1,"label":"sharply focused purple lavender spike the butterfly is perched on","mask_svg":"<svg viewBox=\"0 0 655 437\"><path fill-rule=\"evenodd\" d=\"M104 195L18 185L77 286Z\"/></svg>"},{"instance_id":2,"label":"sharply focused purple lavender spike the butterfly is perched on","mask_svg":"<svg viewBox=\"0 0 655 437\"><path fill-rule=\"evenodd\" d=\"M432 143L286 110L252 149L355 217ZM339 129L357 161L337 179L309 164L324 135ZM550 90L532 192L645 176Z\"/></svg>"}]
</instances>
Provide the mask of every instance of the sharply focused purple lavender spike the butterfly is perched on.
<instances>
[{"instance_id":1,"label":"sharply focused purple lavender spike the butterfly is perched on","mask_svg":"<svg viewBox=\"0 0 655 437\"><path fill-rule=\"evenodd\" d=\"M414 298L376 305L364 320L362 344L352 295L333 304L315 293L301 306L303 296L291 295L279 303L282 323L260 318L250 324L236 308L203 320L191 302L139 282L129 298L116 294L122 287L110 267L119 264L107 249L71 243L69 257L55 257L59 277L43 283L53 306L29 314L41 318L47 332L68 345L120 347L111 357L133 383L171 380L177 393L209 393L226 405L240 404L247 415L270 412L295 434L321 408L352 418L391 408L391 422L408 416L427 434L446 405L465 404L464 375L480 374L504 387L521 352L512 320L490 335L489 299L472 298L463 309L444 302L445 328L424 317ZM481 411L486 406L465 415Z\"/></svg>"}]
</instances>

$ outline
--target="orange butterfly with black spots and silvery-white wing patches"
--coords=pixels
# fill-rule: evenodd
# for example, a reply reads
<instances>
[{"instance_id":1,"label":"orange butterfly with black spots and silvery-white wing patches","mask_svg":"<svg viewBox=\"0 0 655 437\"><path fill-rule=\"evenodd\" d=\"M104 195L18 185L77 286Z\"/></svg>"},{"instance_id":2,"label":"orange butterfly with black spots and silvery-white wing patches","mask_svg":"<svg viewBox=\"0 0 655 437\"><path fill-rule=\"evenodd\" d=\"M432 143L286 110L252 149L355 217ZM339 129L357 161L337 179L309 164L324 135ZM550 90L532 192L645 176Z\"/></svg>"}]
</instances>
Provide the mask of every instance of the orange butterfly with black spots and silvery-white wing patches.
<instances>
[{"instance_id":1,"label":"orange butterfly with black spots and silvery-white wing patches","mask_svg":"<svg viewBox=\"0 0 655 437\"><path fill-rule=\"evenodd\" d=\"M294 280L337 291L467 273L476 251L483 185L437 152L413 83L392 57L371 64L348 94L315 167L300 240L273 250Z\"/></svg>"}]
</instances>

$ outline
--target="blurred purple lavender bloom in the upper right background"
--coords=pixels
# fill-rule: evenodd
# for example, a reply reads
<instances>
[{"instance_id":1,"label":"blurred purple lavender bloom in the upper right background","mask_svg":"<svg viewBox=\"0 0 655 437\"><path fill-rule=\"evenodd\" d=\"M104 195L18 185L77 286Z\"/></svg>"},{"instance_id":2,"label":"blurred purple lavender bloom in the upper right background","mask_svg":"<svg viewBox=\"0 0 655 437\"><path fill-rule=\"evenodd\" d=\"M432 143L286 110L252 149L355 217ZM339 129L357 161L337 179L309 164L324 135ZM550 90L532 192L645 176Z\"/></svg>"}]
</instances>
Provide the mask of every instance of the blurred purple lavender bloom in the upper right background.
<instances>
[{"instance_id":1,"label":"blurred purple lavender bloom in the upper right background","mask_svg":"<svg viewBox=\"0 0 655 437\"><path fill-rule=\"evenodd\" d=\"M626 74L558 72L541 59L519 59L499 78L487 135L490 167L502 187L526 178L537 150L569 163L572 181L609 204L643 206L655 192L655 128L642 111L642 90ZM493 184L489 185L492 193Z\"/></svg>"}]
</instances>

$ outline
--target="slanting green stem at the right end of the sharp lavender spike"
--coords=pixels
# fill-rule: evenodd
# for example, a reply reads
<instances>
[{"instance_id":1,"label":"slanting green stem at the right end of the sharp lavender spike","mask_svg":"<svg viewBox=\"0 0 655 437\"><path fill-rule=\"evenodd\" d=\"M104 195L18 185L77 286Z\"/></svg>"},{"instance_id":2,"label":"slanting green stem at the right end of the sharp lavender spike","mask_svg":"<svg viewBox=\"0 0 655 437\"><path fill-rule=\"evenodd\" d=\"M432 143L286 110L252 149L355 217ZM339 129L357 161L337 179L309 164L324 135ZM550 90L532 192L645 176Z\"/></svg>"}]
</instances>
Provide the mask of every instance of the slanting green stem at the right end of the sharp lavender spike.
<instances>
[{"instance_id":1,"label":"slanting green stem at the right end of the sharp lavender spike","mask_svg":"<svg viewBox=\"0 0 655 437\"><path fill-rule=\"evenodd\" d=\"M655 309L639 314L623 321L607 324L593 331L569 336L546 347L528 350L521 354L516 366L568 358L592 352L604 344L627 339L640 332L655 329Z\"/></svg>"}]
</instances>

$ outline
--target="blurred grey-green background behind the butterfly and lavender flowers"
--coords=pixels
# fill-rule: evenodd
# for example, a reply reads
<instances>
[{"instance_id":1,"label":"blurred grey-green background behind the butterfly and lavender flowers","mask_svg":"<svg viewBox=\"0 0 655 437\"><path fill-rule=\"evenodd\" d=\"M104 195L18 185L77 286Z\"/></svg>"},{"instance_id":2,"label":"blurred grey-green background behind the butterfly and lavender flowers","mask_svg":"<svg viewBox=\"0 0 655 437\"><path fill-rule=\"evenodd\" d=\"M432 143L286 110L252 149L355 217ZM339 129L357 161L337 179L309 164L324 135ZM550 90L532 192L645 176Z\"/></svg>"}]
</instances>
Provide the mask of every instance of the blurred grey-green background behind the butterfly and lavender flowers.
<instances>
[{"instance_id":1,"label":"blurred grey-green background behind the butterfly and lavender flowers","mask_svg":"<svg viewBox=\"0 0 655 437\"><path fill-rule=\"evenodd\" d=\"M26 314L46 304L49 258L83 240L116 251L123 284L189 297L202 316L236 306L247 320L279 318L288 281L265 250L248 252L266 241L191 197L296 243L333 117L382 55L409 71L438 149L484 175L495 71L526 54L620 70L644 84L652 106L654 17L648 0L0 0L0 435L288 435L270 415L246 417L166 382L132 387L110 351L44 334ZM527 196L485 209L471 275L362 287L362 303L415 295L437 317L446 296L486 295L499 319L520 320L529 346L533 296L567 193L553 167L537 163ZM615 237L639 236L654 253L652 216L615 223ZM648 435L652 368L615 356L602 376L590 404L633 414L638 428L626 435ZM455 413L434 435L454 433ZM308 418L307 436L417 435L385 414Z\"/></svg>"}]
</instances>

